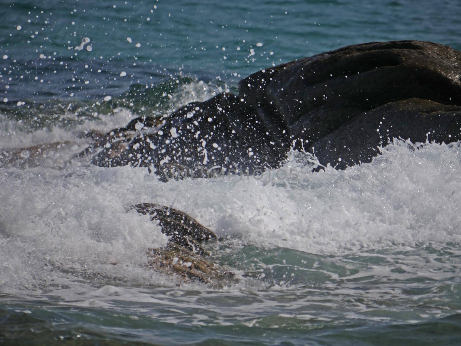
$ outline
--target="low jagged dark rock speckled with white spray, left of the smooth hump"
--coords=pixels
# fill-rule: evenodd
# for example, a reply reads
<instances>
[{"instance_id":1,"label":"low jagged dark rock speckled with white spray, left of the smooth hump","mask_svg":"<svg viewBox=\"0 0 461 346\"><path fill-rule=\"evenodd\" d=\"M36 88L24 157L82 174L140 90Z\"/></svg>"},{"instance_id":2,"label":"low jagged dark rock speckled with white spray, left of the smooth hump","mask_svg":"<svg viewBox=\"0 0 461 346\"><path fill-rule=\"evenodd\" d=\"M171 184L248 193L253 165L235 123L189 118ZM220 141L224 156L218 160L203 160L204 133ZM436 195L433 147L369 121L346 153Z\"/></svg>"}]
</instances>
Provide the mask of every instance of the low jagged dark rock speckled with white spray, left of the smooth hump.
<instances>
[{"instance_id":1,"label":"low jagged dark rock speckled with white spray, left of the smooth hump","mask_svg":"<svg viewBox=\"0 0 461 346\"><path fill-rule=\"evenodd\" d=\"M254 173L278 167L290 149L286 135L267 131L253 108L226 93L181 107L160 126L150 118L133 122L136 131L129 127L100 134L84 154L96 153L93 163L99 166L149 167L169 178L171 171L208 176L212 168Z\"/></svg>"}]
</instances>

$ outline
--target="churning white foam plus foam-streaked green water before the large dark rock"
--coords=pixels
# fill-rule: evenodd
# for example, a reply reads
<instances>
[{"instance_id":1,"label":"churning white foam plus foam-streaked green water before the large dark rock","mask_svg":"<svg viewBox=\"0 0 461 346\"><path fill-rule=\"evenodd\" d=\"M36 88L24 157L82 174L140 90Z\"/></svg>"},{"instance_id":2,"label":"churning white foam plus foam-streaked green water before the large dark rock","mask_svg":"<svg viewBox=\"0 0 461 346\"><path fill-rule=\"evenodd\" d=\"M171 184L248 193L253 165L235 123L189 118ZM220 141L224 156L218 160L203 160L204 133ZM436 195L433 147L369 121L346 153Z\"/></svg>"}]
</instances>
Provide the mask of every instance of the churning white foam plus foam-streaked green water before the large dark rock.
<instances>
[{"instance_id":1,"label":"churning white foam plus foam-streaked green water before the large dark rock","mask_svg":"<svg viewBox=\"0 0 461 346\"><path fill-rule=\"evenodd\" d=\"M97 127L128 118L121 110ZM142 320L299 331L461 313L460 143L395 140L345 171L312 173L313 158L292 153L262 177L162 183L147 169L69 162L85 145L78 131L94 125L24 133L2 122L3 147L18 137L71 142L35 167L0 171L6 301L122 313L133 324L125 328ZM148 247L167 238L148 216L127 212L141 202L183 210L225 237L214 256L250 277L213 289L145 268Z\"/></svg>"}]
</instances>

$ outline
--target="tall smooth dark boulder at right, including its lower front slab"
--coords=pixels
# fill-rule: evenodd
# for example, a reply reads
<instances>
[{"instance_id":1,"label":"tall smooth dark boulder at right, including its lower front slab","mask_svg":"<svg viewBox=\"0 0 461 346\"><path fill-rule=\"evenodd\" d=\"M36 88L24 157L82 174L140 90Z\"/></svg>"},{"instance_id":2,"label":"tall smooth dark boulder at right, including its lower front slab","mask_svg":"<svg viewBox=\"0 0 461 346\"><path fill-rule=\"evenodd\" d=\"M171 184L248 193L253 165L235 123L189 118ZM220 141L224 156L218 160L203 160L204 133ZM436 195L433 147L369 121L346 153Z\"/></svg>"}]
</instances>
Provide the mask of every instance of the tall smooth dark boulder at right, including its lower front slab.
<instances>
[{"instance_id":1,"label":"tall smooth dark boulder at right, including its lower front slab","mask_svg":"<svg viewBox=\"0 0 461 346\"><path fill-rule=\"evenodd\" d=\"M371 161L393 137L461 139L461 52L437 43L348 46L256 72L239 86L257 113L271 114L268 128L285 128L296 149L315 147L338 168Z\"/></svg>"}]
</instances>

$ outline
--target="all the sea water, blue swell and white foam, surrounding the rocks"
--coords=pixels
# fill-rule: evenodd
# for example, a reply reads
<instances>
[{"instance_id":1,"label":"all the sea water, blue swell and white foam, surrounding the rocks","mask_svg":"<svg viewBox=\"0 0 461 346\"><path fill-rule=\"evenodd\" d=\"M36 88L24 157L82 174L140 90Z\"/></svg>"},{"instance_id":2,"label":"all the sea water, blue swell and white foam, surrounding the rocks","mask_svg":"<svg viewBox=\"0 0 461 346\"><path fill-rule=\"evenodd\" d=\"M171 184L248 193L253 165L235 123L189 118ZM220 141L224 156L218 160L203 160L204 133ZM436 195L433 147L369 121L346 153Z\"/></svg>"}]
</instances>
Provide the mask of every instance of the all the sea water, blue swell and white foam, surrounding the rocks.
<instances>
[{"instance_id":1,"label":"all the sea water, blue swell and white foam, surrounding the rocks","mask_svg":"<svg viewBox=\"0 0 461 346\"><path fill-rule=\"evenodd\" d=\"M396 140L370 164L160 182L69 160L86 130L236 92L348 44L461 49L461 3L0 1L1 345L459 345L461 143ZM21 164L21 162L25 162ZM295 175L285 175L296 172ZM269 174L270 173L270 174ZM222 240L224 287L146 268L183 210ZM113 263L117 263L114 265Z\"/></svg>"}]
</instances>

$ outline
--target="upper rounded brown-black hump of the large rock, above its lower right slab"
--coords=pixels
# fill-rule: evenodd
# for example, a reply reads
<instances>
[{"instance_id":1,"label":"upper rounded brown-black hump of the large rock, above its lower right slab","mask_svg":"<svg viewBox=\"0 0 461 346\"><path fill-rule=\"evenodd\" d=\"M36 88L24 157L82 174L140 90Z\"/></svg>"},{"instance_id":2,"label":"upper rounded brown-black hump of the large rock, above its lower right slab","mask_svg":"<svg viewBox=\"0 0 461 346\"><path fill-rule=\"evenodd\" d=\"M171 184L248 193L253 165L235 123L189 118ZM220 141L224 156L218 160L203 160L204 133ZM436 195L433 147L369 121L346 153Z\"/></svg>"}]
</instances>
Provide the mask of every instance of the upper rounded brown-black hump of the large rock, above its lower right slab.
<instances>
[{"instance_id":1,"label":"upper rounded brown-black hump of the large rock, above its lower right slab","mask_svg":"<svg viewBox=\"0 0 461 346\"><path fill-rule=\"evenodd\" d=\"M389 102L418 98L461 106L460 78L461 52L452 48L371 42L256 72L239 87L253 107L276 114L274 123L288 128L290 138L312 145Z\"/></svg>"}]
</instances>

